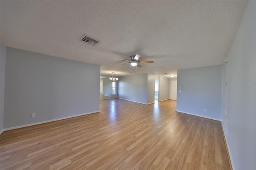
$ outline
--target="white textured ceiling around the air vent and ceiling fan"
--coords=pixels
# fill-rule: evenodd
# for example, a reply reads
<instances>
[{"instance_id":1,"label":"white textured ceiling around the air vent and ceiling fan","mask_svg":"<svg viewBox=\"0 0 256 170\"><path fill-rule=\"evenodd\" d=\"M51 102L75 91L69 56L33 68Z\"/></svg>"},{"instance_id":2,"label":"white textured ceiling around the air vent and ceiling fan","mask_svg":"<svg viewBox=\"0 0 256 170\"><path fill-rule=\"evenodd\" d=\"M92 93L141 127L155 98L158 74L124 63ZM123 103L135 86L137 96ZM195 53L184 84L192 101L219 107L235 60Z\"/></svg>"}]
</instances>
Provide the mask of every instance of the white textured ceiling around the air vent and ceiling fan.
<instances>
[{"instance_id":1,"label":"white textured ceiling around the air vent and ceiling fan","mask_svg":"<svg viewBox=\"0 0 256 170\"><path fill-rule=\"evenodd\" d=\"M101 65L101 73L136 73L121 65L140 54L138 73L222 64L247 1L0 1L1 43ZM101 43L80 42L86 34ZM164 74L167 73L167 74ZM170 76L169 76L170 77Z\"/></svg>"}]
</instances>

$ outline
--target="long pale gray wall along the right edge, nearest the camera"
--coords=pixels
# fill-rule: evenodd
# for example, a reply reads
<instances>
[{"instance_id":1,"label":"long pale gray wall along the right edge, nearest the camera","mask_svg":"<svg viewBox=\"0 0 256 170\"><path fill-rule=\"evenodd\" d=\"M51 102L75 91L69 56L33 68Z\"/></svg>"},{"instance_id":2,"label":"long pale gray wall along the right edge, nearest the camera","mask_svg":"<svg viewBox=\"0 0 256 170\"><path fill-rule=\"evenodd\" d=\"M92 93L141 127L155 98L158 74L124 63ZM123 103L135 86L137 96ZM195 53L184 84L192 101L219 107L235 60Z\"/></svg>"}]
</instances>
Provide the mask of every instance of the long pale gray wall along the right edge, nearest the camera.
<instances>
[{"instance_id":1,"label":"long pale gray wall along the right edge, nearest the camera","mask_svg":"<svg viewBox=\"0 0 256 170\"><path fill-rule=\"evenodd\" d=\"M233 168L256 170L256 1L249 1L227 57L222 103L227 125L222 118Z\"/></svg>"}]
</instances>

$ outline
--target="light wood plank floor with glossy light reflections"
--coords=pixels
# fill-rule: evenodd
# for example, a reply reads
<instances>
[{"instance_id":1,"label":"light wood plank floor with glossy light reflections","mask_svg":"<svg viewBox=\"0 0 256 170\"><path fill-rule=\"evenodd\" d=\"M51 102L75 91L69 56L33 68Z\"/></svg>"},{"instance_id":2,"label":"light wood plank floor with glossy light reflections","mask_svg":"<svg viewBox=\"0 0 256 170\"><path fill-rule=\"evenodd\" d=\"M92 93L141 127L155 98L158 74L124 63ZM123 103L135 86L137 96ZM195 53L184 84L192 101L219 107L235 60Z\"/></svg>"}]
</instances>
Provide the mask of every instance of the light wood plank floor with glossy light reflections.
<instances>
[{"instance_id":1,"label":"light wood plank floor with glossy light reflections","mask_svg":"<svg viewBox=\"0 0 256 170\"><path fill-rule=\"evenodd\" d=\"M100 101L100 113L6 131L5 169L230 169L220 122L177 113L176 101Z\"/></svg>"}]
</instances>

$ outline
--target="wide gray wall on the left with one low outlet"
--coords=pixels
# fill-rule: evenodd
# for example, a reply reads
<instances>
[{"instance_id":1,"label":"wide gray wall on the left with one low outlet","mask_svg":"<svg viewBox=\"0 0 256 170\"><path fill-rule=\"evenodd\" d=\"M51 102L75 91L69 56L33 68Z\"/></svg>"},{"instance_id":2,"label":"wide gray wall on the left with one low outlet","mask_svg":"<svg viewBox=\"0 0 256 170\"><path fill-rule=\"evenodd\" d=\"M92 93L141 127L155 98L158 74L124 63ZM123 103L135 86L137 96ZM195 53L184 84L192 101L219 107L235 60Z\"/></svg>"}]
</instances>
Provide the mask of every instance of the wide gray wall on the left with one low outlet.
<instances>
[{"instance_id":1,"label":"wide gray wall on the left with one low outlet","mask_svg":"<svg viewBox=\"0 0 256 170\"><path fill-rule=\"evenodd\" d=\"M99 77L98 65L6 47L4 128L99 111Z\"/></svg>"}]
</instances>

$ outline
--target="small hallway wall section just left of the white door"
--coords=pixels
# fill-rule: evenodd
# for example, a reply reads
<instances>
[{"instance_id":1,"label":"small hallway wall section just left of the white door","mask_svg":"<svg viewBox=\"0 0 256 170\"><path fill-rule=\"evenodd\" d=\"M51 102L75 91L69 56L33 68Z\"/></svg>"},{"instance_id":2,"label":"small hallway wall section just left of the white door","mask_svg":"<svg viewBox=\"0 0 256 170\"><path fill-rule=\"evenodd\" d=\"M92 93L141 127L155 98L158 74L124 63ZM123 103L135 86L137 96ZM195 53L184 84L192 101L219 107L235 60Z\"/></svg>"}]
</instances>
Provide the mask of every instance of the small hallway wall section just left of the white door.
<instances>
[{"instance_id":1,"label":"small hallway wall section just left of the white door","mask_svg":"<svg viewBox=\"0 0 256 170\"><path fill-rule=\"evenodd\" d=\"M159 76L159 89L158 89L158 101L169 99L170 85L169 79L166 77Z\"/></svg>"}]
</instances>

